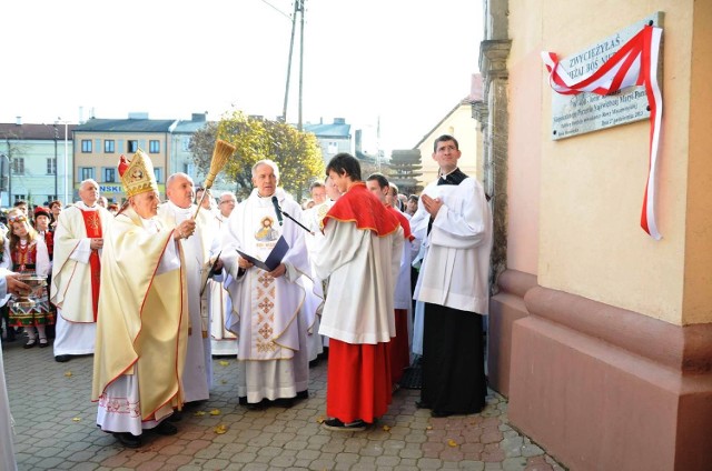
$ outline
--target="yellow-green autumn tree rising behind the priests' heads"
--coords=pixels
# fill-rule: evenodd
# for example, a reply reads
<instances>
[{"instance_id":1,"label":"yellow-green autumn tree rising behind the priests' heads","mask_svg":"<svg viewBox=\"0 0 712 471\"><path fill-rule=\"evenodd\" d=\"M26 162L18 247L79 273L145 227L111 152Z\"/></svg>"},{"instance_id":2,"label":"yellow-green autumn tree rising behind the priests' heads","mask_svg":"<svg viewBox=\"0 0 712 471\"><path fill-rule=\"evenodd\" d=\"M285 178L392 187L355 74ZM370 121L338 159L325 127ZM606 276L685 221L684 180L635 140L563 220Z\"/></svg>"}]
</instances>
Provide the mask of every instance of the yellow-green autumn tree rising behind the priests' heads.
<instances>
[{"instance_id":1,"label":"yellow-green autumn tree rising behind the priests' heads","mask_svg":"<svg viewBox=\"0 0 712 471\"><path fill-rule=\"evenodd\" d=\"M222 173L236 182L238 198L249 196L251 169L261 159L277 162L280 186L297 201L308 192L309 183L324 174L322 150L313 133L300 132L283 122L247 117L241 111L211 124L194 134L190 151L196 166L205 172L210 168L216 139L235 146L235 156Z\"/></svg>"}]
</instances>

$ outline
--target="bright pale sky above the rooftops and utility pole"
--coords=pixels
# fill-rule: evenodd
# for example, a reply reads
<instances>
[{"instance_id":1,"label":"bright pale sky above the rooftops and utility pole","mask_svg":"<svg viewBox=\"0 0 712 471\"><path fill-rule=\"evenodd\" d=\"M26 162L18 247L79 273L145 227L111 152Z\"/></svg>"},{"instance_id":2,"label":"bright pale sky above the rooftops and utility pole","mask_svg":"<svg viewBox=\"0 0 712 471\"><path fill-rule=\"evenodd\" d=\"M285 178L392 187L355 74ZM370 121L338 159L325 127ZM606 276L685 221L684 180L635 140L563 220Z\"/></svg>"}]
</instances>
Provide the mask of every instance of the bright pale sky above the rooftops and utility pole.
<instances>
[{"instance_id":1,"label":"bright pale sky above the rooftops and utility pole","mask_svg":"<svg viewBox=\"0 0 712 471\"><path fill-rule=\"evenodd\" d=\"M291 0L14 1L3 6L0 121L209 119L284 104ZM412 148L467 96L477 0L306 0L304 121L342 117ZM279 11L278 11L279 10ZM298 39L298 26L297 26ZM295 43L295 58L299 43ZM10 51L13 51L12 53ZM297 120L298 62L287 118Z\"/></svg>"}]
</instances>

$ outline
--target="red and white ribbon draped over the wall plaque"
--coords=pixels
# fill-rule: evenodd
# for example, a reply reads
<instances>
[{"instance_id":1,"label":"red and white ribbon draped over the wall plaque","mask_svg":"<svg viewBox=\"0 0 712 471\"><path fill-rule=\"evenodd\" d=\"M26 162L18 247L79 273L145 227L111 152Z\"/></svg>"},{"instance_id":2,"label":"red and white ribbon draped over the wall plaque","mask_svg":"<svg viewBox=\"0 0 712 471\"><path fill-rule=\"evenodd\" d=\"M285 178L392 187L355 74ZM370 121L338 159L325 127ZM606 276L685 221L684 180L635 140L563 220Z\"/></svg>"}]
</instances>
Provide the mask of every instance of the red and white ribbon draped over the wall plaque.
<instances>
[{"instance_id":1,"label":"red and white ribbon draped over the wall plaque","mask_svg":"<svg viewBox=\"0 0 712 471\"><path fill-rule=\"evenodd\" d=\"M657 59L662 34L661 28L645 26L592 76L580 81L573 80L568 72L558 67L555 53L542 52L542 59L550 72L550 86L557 93L577 94L586 91L609 94L631 86L645 87L650 107L650 158L641 227L655 240L662 238L655 222L657 150L663 112L663 100L657 84Z\"/></svg>"}]
</instances>

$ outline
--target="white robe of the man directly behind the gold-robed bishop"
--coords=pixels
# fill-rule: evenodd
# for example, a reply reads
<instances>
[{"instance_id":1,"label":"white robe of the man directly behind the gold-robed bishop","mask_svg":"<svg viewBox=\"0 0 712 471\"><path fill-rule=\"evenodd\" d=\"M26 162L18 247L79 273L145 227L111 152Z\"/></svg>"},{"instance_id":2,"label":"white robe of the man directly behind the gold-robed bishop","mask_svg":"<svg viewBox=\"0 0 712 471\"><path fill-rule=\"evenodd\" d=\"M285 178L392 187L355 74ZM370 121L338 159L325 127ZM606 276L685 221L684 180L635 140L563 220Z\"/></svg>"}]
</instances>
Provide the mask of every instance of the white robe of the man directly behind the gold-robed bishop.
<instances>
[{"instance_id":1,"label":"white robe of the man directly behind the gold-robed bishop","mask_svg":"<svg viewBox=\"0 0 712 471\"><path fill-rule=\"evenodd\" d=\"M191 219L197 206L179 208L170 201L158 207L158 219L165 228L174 229L186 219ZM188 311L190 328L188 333L188 352L184 372L186 402L204 401L210 397L212 384L212 357L210 354L210 327L207 298L201 298L202 270L215 248L219 243L212 231L212 213L201 209L196 220L196 232L188 239L181 239L186 280L188 282Z\"/></svg>"}]
</instances>

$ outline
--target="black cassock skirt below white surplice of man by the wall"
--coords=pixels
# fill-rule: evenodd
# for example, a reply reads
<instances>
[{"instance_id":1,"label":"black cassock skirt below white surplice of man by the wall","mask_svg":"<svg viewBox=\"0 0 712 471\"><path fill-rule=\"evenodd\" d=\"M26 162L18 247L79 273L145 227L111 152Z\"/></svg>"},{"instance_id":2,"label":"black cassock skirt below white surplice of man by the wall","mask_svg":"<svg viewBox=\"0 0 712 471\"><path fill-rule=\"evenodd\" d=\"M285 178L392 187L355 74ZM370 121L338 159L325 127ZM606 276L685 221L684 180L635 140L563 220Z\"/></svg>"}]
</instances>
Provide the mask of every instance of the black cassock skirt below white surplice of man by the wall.
<instances>
[{"instance_id":1,"label":"black cassock skirt below white surplice of man by the wall","mask_svg":"<svg viewBox=\"0 0 712 471\"><path fill-rule=\"evenodd\" d=\"M482 315L425 303L421 400L434 411L475 413L486 395Z\"/></svg>"}]
</instances>

